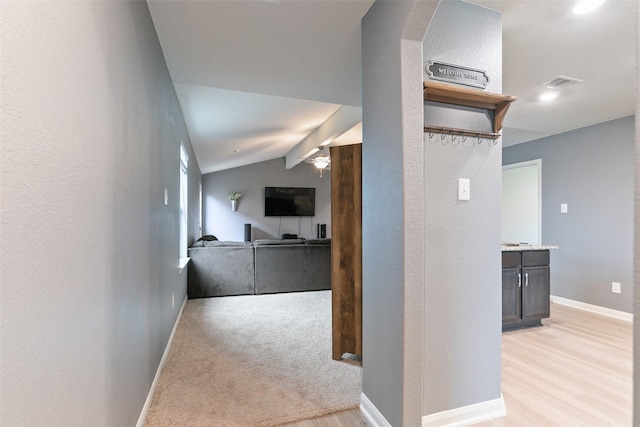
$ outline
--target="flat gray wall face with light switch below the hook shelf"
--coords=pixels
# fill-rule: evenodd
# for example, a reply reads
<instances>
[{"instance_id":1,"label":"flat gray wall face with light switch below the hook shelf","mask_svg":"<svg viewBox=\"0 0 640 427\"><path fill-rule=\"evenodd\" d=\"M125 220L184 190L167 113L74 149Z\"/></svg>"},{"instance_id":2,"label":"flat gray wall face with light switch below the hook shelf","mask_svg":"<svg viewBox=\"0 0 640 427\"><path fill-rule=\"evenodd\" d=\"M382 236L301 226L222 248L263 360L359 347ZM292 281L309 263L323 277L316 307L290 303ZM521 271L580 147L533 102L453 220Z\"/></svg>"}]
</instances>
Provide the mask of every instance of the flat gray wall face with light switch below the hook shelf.
<instances>
[{"instance_id":1,"label":"flat gray wall face with light switch below the hook shelf","mask_svg":"<svg viewBox=\"0 0 640 427\"><path fill-rule=\"evenodd\" d=\"M486 70L486 91L501 93L500 14L441 2L424 60ZM424 414L500 398L500 144L443 145L439 137L424 144ZM457 200L458 178L471 180L470 201Z\"/></svg>"}]
</instances>

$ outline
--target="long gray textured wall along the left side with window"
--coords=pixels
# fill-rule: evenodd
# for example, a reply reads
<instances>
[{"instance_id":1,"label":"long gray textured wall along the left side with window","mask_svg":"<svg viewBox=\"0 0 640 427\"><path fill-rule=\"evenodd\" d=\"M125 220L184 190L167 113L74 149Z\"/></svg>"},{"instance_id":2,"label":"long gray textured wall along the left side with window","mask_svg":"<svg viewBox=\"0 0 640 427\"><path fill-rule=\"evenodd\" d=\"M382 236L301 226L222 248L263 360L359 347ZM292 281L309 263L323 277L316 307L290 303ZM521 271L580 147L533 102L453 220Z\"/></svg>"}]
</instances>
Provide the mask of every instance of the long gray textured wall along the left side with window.
<instances>
[{"instance_id":1,"label":"long gray textured wall along the left side with window","mask_svg":"<svg viewBox=\"0 0 640 427\"><path fill-rule=\"evenodd\" d=\"M2 425L135 425L186 297L181 140L200 180L147 4L0 7Z\"/></svg>"}]
</instances>

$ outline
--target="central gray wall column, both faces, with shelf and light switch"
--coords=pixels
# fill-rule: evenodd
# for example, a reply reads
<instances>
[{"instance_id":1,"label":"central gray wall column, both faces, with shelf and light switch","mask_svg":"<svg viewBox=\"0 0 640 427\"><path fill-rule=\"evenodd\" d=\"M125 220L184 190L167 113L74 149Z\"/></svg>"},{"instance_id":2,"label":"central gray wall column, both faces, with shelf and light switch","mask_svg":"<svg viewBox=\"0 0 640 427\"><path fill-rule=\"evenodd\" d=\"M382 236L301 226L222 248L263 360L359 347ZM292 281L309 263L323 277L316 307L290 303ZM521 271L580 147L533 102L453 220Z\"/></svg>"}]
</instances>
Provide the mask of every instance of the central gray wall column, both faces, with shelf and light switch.
<instances>
[{"instance_id":1,"label":"central gray wall column, both faces, with shelf and light switch","mask_svg":"<svg viewBox=\"0 0 640 427\"><path fill-rule=\"evenodd\" d=\"M424 49L500 92L501 19L437 4L376 2L362 22L363 393L391 425L500 399L501 146L423 143L422 81Z\"/></svg>"}]
</instances>

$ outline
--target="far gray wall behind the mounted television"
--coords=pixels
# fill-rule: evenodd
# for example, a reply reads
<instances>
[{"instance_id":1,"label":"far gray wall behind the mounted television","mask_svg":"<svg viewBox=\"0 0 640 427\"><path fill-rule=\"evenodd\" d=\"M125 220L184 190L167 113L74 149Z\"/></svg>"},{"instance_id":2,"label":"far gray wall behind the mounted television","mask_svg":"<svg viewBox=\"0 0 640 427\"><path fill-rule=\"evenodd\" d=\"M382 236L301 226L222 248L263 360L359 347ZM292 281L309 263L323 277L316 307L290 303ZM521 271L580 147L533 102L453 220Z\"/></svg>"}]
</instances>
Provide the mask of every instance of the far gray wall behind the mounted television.
<instances>
[{"instance_id":1,"label":"far gray wall behind the mounted television","mask_svg":"<svg viewBox=\"0 0 640 427\"><path fill-rule=\"evenodd\" d=\"M265 217L264 187L314 187L314 217ZM227 194L242 194L238 210L231 210ZM251 224L251 239L275 239L283 233L315 238L316 224L327 224L331 237L331 172L301 163L286 169L284 158L254 163L202 176L203 234L219 240L244 240L244 224ZM278 231L280 230L280 231Z\"/></svg>"}]
</instances>

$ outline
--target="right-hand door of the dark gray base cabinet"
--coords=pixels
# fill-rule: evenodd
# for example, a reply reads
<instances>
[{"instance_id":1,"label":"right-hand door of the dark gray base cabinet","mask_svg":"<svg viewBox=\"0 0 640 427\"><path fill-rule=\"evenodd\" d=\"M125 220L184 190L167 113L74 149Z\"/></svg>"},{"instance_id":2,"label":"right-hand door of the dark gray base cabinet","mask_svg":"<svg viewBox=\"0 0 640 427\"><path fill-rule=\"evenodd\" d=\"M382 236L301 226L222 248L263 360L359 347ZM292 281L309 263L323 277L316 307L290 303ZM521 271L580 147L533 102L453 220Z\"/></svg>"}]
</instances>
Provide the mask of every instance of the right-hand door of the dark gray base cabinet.
<instances>
[{"instance_id":1,"label":"right-hand door of the dark gray base cabinet","mask_svg":"<svg viewBox=\"0 0 640 427\"><path fill-rule=\"evenodd\" d=\"M549 267L522 269L522 319L549 317Z\"/></svg>"}]
</instances>

